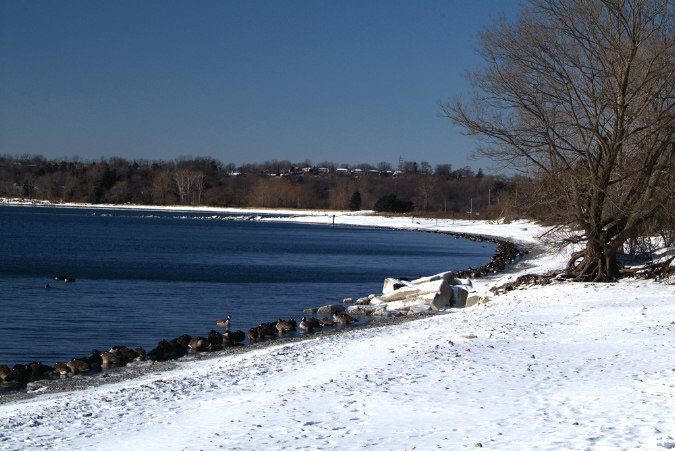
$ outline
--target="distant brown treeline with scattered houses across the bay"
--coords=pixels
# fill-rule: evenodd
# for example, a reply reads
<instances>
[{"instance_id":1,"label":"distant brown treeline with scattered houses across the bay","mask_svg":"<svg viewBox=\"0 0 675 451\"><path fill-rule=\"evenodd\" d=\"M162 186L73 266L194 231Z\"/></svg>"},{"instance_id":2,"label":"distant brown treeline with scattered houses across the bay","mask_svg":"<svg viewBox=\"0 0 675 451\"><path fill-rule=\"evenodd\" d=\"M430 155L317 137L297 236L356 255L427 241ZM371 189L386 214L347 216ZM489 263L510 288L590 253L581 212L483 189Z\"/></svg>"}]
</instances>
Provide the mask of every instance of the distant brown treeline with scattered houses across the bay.
<instances>
[{"instance_id":1,"label":"distant brown treeline with scattered houses across the bay","mask_svg":"<svg viewBox=\"0 0 675 451\"><path fill-rule=\"evenodd\" d=\"M388 163L338 167L274 160L236 167L202 157L90 162L0 156L0 196L52 202L346 210L389 205L395 196L395 205L407 211L496 215L513 209L514 187L522 183L426 162L402 162L392 170Z\"/></svg>"}]
</instances>

